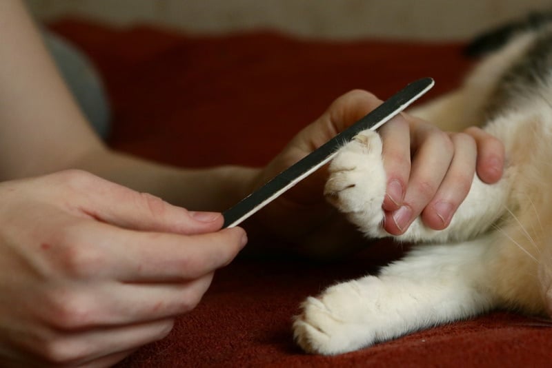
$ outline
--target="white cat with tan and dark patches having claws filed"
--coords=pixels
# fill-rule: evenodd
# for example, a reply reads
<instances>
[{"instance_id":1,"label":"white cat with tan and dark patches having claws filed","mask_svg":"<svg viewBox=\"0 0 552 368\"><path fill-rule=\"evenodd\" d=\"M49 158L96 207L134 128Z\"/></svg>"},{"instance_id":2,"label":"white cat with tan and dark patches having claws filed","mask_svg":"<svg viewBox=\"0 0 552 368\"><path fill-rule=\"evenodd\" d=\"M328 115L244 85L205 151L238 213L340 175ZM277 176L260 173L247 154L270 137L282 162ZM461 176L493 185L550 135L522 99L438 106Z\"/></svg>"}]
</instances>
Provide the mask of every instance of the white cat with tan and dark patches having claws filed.
<instances>
[{"instance_id":1,"label":"white cat with tan and dark patches having claws filed","mask_svg":"<svg viewBox=\"0 0 552 368\"><path fill-rule=\"evenodd\" d=\"M417 219L396 237L415 243L404 258L308 297L293 323L302 349L342 354L497 308L551 314L552 17L531 19L480 37L471 52L486 55L462 86L411 112L445 130L484 122L506 149L501 180L475 175L449 227ZM389 236L380 136L358 134L329 172L328 200L368 238Z\"/></svg>"}]
</instances>

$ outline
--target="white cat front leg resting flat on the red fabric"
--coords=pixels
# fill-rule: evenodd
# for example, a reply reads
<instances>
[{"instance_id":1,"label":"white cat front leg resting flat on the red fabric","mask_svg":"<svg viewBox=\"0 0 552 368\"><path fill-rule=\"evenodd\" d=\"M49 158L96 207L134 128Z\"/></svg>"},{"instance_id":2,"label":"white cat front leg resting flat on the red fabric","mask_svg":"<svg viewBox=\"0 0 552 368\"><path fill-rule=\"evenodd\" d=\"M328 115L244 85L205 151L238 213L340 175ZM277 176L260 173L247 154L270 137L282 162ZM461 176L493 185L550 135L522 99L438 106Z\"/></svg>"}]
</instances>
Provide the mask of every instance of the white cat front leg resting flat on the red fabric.
<instances>
[{"instance_id":1,"label":"white cat front leg resting flat on the red fabric","mask_svg":"<svg viewBox=\"0 0 552 368\"><path fill-rule=\"evenodd\" d=\"M487 311L495 302L485 254L481 240L422 247L380 276L328 287L302 304L295 340L310 353L342 354Z\"/></svg>"}]
</instances>

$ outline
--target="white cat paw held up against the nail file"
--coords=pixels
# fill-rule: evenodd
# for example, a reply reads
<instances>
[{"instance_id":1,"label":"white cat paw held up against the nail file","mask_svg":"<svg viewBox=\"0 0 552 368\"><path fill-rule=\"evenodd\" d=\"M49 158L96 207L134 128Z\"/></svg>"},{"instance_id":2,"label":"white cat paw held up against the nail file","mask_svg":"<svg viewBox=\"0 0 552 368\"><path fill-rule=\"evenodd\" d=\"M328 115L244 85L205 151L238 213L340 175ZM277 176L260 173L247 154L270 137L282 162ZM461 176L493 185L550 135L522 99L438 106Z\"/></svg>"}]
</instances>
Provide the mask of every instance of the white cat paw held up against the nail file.
<instances>
[{"instance_id":1,"label":"white cat paw held up against the nail file","mask_svg":"<svg viewBox=\"0 0 552 368\"><path fill-rule=\"evenodd\" d=\"M362 232L385 236L381 225L386 174L380 136L371 130L359 133L337 152L328 170L326 199Z\"/></svg>"}]
</instances>

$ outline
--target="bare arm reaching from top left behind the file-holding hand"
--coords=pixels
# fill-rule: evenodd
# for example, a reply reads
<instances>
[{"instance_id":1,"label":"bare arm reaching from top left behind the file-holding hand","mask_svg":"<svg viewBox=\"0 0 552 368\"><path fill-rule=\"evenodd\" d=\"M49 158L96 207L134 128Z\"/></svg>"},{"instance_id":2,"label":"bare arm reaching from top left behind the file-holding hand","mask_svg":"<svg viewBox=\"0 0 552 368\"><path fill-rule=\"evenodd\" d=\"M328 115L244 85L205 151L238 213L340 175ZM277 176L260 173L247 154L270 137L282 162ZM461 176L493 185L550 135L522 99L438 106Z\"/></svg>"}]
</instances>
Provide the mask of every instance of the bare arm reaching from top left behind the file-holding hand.
<instances>
[{"instance_id":1,"label":"bare arm reaching from top left behind the file-holding hand","mask_svg":"<svg viewBox=\"0 0 552 368\"><path fill-rule=\"evenodd\" d=\"M119 154L92 132L21 1L0 1L0 181L87 170L193 209L229 207L257 170L184 170Z\"/></svg>"}]
</instances>

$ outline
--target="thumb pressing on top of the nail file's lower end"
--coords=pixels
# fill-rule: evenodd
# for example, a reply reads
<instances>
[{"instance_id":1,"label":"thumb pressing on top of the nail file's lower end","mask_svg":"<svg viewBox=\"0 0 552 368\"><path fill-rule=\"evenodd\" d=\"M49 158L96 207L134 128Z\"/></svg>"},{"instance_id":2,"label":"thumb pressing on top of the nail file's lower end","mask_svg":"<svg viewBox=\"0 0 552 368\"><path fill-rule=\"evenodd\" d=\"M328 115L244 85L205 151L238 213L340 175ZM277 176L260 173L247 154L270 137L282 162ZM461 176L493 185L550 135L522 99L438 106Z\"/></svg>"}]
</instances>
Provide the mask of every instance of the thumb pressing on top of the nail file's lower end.
<instances>
[{"instance_id":1,"label":"thumb pressing on top of the nail file's lower end","mask_svg":"<svg viewBox=\"0 0 552 368\"><path fill-rule=\"evenodd\" d=\"M88 199L86 205L77 207L79 212L119 227L200 234L216 231L224 222L219 213L190 212L151 194L130 190L87 172L69 170L55 177L64 187L69 185L78 192L80 198Z\"/></svg>"}]
</instances>

